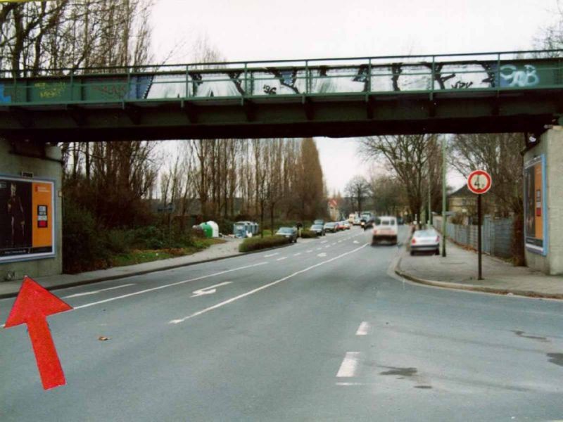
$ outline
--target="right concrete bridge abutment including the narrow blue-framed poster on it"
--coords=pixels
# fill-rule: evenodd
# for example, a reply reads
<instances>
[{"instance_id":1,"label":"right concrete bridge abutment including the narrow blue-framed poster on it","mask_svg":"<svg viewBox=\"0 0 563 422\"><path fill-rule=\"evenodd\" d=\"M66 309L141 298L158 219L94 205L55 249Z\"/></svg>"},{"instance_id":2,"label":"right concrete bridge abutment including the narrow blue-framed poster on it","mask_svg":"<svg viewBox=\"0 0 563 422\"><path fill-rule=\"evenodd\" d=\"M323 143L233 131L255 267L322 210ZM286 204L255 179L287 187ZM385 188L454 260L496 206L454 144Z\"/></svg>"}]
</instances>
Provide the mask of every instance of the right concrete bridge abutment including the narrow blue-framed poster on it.
<instances>
[{"instance_id":1,"label":"right concrete bridge abutment including the narrow blue-framed poster on it","mask_svg":"<svg viewBox=\"0 0 563 422\"><path fill-rule=\"evenodd\" d=\"M563 127L548 129L538 141L524 153L526 264L563 274Z\"/></svg>"}]
</instances>

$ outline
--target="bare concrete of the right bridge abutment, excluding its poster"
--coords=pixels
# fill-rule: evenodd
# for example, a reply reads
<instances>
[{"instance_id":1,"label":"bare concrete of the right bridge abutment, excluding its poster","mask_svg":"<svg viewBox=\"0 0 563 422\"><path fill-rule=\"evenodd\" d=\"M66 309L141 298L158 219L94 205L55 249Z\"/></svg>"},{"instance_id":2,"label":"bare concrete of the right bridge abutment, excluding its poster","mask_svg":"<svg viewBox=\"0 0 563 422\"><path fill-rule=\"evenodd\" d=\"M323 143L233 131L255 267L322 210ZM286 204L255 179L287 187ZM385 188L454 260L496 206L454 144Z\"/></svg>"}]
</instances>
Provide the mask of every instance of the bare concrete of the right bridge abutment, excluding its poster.
<instances>
[{"instance_id":1,"label":"bare concrete of the right bridge abutment, excluding its poster","mask_svg":"<svg viewBox=\"0 0 563 422\"><path fill-rule=\"evenodd\" d=\"M534 158L539 161L542 155L545 162L545 191L541 200L545 208L543 224L547 226L543 236L543 251L526 247L526 264L545 274L563 274L563 127L555 126L544 132L538 145L524 154L524 165Z\"/></svg>"}]
</instances>

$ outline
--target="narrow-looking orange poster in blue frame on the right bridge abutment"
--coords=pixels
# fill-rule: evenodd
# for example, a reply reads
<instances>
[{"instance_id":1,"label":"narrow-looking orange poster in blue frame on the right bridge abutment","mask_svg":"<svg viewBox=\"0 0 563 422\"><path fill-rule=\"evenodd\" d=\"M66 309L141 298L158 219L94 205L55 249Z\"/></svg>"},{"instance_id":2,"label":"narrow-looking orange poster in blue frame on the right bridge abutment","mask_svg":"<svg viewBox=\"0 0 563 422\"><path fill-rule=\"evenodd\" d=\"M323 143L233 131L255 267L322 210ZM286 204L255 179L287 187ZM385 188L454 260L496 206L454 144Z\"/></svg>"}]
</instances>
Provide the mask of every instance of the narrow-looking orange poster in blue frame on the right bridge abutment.
<instances>
[{"instance_id":1,"label":"narrow-looking orange poster in blue frame on the right bridge abutment","mask_svg":"<svg viewBox=\"0 0 563 422\"><path fill-rule=\"evenodd\" d=\"M524 236L526 249L543 255L547 252L545 233L544 156L524 165Z\"/></svg>"}]
</instances>

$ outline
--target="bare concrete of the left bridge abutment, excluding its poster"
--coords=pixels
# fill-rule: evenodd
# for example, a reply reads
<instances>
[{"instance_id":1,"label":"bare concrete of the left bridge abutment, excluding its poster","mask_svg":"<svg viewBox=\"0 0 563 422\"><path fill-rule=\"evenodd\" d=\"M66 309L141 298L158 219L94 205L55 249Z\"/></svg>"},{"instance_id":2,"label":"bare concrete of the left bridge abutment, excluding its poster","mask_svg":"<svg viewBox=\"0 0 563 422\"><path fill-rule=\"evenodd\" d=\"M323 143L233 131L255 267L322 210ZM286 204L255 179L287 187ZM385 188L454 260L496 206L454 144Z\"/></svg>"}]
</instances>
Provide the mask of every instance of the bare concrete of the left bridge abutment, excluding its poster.
<instances>
[{"instance_id":1,"label":"bare concrete of the left bridge abutment, excluding its poster","mask_svg":"<svg viewBox=\"0 0 563 422\"><path fill-rule=\"evenodd\" d=\"M23 173L27 176L33 174L30 181L33 179L54 181L55 206L54 210L49 212L53 212L52 217L55 223L55 255L41 259L34 259L31 256L28 259L23 257L15 262L0 261L0 282L11 279L11 277L22 279L24 275L51 276L61 274L63 270L61 149L57 146L32 146L24 143L14 147L9 141L0 139L0 179L2 177L21 177ZM6 204L0 204L0 206L7 207ZM0 223L6 224L6 222Z\"/></svg>"}]
</instances>

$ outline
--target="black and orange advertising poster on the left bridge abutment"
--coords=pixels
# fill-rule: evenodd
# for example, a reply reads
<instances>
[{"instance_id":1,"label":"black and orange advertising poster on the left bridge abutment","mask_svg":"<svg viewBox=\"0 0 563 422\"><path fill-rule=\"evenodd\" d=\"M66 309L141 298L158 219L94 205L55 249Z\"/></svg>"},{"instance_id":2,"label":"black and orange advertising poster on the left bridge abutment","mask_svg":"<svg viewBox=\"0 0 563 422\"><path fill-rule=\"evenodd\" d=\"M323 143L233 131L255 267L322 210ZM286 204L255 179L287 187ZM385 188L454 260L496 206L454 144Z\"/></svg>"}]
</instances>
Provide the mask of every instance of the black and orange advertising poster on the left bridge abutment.
<instances>
[{"instance_id":1,"label":"black and orange advertising poster on the left bridge abutment","mask_svg":"<svg viewBox=\"0 0 563 422\"><path fill-rule=\"evenodd\" d=\"M53 205L52 181L0 176L0 262L55 255Z\"/></svg>"}]
</instances>

